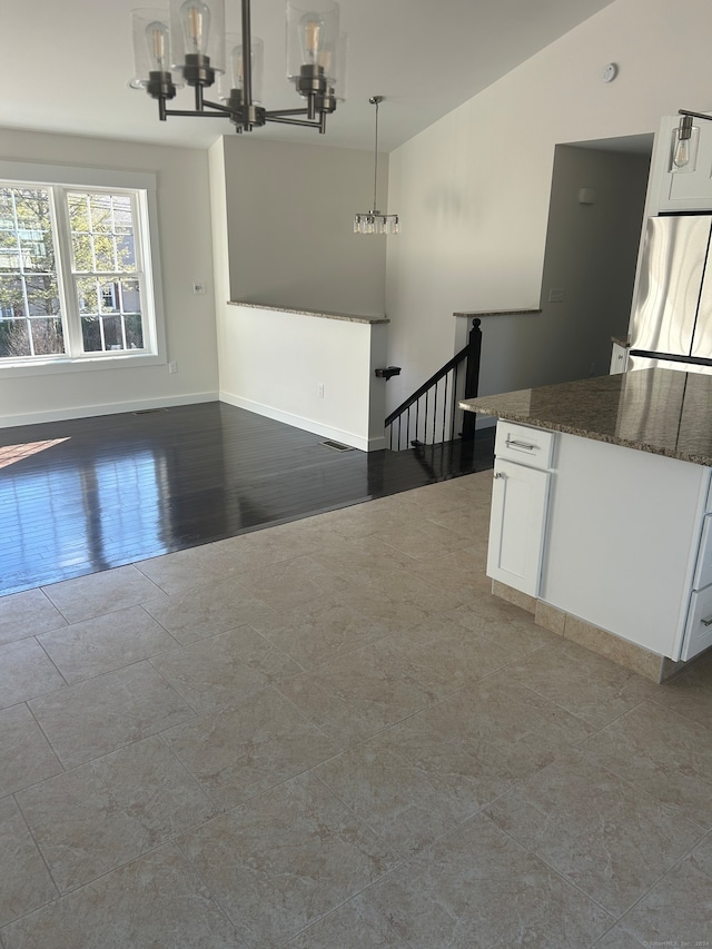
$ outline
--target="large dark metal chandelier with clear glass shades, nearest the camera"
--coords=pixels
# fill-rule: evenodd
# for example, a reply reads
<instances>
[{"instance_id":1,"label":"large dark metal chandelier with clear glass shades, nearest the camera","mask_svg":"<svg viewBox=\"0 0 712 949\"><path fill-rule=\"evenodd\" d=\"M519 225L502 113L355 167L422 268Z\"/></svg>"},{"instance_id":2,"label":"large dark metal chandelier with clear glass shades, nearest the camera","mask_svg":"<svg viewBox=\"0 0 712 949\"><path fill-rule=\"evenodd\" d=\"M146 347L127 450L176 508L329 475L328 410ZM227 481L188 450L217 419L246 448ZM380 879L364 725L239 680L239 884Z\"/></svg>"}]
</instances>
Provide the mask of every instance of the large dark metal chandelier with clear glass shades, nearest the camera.
<instances>
[{"instance_id":1,"label":"large dark metal chandelier with clear glass shades, nearest the camera","mask_svg":"<svg viewBox=\"0 0 712 949\"><path fill-rule=\"evenodd\" d=\"M250 0L241 2L241 33L225 33L225 0L170 0L168 9L132 13L135 78L158 101L158 117L221 116L238 132L266 122L307 126L326 131L326 117L344 101L346 36L339 33L334 0L288 0L287 77L305 103L298 109L267 110L261 105L263 42L251 36ZM217 83L218 99L204 90ZM195 90L192 109L168 102L182 86Z\"/></svg>"}]
</instances>

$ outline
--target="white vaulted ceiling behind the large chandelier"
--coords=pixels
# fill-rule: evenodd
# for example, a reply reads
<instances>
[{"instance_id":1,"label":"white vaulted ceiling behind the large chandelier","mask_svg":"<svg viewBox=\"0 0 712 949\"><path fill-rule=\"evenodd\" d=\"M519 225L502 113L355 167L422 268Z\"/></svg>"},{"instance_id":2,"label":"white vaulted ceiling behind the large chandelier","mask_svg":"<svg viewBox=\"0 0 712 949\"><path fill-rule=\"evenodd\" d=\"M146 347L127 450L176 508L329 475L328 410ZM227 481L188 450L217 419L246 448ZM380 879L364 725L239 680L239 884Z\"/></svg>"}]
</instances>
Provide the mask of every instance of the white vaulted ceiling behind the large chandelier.
<instances>
[{"instance_id":1,"label":"white vaulted ceiling behind the large chandelier","mask_svg":"<svg viewBox=\"0 0 712 949\"><path fill-rule=\"evenodd\" d=\"M63 131L205 148L227 120L171 118L128 88L130 11L138 0L0 0L3 95L0 127ZM167 6L168 0L165 0ZM495 82L612 0L339 0L349 37L347 100L327 135L268 126L253 135L344 148L372 148L382 95L379 146L390 151ZM160 0L156 6L161 6ZM239 30L239 0L226 0ZM253 33L265 42L264 100L295 108L285 76L285 4L253 0ZM189 107L189 93L185 105Z\"/></svg>"}]
</instances>

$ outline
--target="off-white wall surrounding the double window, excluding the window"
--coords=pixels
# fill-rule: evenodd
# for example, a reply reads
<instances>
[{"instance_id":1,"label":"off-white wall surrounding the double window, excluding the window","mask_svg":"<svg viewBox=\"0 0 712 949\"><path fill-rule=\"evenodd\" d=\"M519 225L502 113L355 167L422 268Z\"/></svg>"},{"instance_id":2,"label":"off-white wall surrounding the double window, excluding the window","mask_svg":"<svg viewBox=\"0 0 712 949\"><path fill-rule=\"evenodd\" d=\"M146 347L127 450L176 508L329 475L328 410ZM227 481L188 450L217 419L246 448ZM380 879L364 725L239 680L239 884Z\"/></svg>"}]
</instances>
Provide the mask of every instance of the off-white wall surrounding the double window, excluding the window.
<instances>
[{"instance_id":1,"label":"off-white wall surrounding the double window, excluding the window","mask_svg":"<svg viewBox=\"0 0 712 949\"><path fill-rule=\"evenodd\" d=\"M0 425L217 398L208 157L205 151L0 130L0 158L157 175L167 360L178 364L0 380ZM192 295L192 281L207 284Z\"/></svg>"}]
</instances>

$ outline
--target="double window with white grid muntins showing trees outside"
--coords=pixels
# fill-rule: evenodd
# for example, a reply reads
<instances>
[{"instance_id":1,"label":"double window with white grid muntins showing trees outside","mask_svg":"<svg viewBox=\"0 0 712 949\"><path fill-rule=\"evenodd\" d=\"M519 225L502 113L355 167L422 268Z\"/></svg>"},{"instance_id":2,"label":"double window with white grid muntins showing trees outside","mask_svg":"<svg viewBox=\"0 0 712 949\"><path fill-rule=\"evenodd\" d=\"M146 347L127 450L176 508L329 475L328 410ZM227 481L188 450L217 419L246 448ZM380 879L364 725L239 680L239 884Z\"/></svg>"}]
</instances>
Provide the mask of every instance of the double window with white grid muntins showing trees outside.
<instances>
[{"instance_id":1,"label":"double window with white grid muntins showing trees outside","mask_svg":"<svg viewBox=\"0 0 712 949\"><path fill-rule=\"evenodd\" d=\"M0 180L0 370L157 362L148 198L113 182Z\"/></svg>"}]
</instances>

